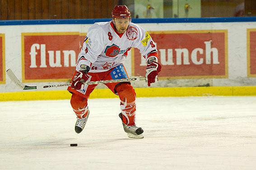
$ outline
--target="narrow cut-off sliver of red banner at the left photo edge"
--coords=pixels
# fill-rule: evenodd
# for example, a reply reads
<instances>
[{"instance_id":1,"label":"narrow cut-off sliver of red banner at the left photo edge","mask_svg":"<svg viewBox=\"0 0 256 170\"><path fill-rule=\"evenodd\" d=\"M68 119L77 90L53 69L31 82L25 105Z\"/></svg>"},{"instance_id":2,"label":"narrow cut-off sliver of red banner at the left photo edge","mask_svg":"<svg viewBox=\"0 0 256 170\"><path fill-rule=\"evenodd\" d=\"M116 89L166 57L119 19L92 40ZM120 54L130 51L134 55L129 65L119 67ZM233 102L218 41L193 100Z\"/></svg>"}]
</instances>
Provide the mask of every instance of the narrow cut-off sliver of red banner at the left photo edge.
<instances>
[{"instance_id":1,"label":"narrow cut-off sliver of red banner at the left photo edge","mask_svg":"<svg viewBox=\"0 0 256 170\"><path fill-rule=\"evenodd\" d=\"M5 84L5 34L0 34L0 84Z\"/></svg>"}]
</instances>

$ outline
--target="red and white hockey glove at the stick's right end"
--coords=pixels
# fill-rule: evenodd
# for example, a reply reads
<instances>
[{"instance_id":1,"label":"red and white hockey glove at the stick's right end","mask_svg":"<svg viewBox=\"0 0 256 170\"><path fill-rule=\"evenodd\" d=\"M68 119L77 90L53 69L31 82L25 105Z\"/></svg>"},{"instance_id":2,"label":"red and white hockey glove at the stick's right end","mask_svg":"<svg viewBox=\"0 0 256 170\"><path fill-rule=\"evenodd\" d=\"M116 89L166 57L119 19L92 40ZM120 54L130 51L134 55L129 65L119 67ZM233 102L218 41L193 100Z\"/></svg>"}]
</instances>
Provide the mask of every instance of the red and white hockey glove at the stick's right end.
<instances>
[{"instance_id":1,"label":"red and white hockey glove at the stick's right end","mask_svg":"<svg viewBox=\"0 0 256 170\"><path fill-rule=\"evenodd\" d=\"M157 62L148 63L146 68L146 81L150 83L158 81L158 72L161 71L161 65Z\"/></svg>"}]
</instances>

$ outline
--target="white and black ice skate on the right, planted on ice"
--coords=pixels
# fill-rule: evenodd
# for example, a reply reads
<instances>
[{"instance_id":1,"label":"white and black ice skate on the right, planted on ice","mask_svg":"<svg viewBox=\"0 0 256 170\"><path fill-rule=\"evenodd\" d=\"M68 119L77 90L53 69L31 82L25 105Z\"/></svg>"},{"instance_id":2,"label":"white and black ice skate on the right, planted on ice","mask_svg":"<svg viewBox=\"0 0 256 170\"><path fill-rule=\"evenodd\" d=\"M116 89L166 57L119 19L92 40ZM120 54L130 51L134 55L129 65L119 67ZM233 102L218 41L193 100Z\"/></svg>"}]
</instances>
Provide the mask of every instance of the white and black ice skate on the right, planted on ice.
<instances>
[{"instance_id":1,"label":"white and black ice skate on the right, planted on ice","mask_svg":"<svg viewBox=\"0 0 256 170\"><path fill-rule=\"evenodd\" d=\"M119 117L122 120L122 113L119 113ZM127 133L127 136L129 138L136 138L136 139L141 139L144 138L143 136L143 129L140 127L137 127L136 125L132 125L132 126L127 126L126 124L123 124L124 130Z\"/></svg>"}]
</instances>

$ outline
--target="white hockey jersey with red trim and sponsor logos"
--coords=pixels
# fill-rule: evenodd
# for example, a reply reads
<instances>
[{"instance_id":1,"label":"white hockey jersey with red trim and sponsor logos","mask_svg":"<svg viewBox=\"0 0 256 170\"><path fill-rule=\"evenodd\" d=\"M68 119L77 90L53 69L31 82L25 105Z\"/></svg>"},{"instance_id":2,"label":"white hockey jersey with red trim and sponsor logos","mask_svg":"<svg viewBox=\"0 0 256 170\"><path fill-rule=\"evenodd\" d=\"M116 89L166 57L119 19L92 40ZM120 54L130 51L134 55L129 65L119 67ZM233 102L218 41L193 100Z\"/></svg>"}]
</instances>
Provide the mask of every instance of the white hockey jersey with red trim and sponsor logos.
<instances>
[{"instance_id":1,"label":"white hockey jersey with red trim and sponsor logos","mask_svg":"<svg viewBox=\"0 0 256 170\"><path fill-rule=\"evenodd\" d=\"M139 25L130 22L126 32L120 34L112 21L96 22L89 28L76 63L76 70L82 64L91 67L90 72L105 72L124 63L127 52L138 48L147 59L155 57L158 51L151 36Z\"/></svg>"}]
</instances>

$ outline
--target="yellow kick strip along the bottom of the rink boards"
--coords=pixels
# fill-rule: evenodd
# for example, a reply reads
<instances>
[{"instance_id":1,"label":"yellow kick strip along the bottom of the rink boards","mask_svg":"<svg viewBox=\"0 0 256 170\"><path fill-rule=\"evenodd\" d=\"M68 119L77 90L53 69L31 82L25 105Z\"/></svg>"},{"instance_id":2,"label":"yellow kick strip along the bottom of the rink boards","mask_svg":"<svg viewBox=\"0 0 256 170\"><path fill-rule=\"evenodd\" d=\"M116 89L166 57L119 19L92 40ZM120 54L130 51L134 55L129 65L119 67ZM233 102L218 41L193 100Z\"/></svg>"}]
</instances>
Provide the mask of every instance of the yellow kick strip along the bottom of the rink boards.
<instances>
[{"instance_id":1,"label":"yellow kick strip along the bottom of the rink boards","mask_svg":"<svg viewBox=\"0 0 256 170\"><path fill-rule=\"evenodd\" d=\"M256 96L256 86L135 88L136 97ZM0 93L0 101L70 99L67 90ZM90 98L117 98L109 89L94 89Z\"/></svg>"}]
</instances>

